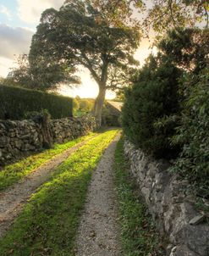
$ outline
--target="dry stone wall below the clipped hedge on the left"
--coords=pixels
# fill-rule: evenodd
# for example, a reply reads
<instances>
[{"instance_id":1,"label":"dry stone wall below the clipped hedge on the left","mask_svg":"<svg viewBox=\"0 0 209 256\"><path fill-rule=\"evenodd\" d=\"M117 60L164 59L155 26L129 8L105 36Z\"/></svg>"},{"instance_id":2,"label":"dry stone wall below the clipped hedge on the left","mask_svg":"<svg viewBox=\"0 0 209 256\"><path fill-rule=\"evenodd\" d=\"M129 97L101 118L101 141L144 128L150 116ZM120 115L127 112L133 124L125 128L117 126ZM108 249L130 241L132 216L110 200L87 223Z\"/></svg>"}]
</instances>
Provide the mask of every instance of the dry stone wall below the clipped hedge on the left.
<instances>
[{"instance_id":1,"label":"dry stone wall below the clipped hedge on the left","mask_svg":"<svg viewBox=\"0 0 209 256\"><path fill-rule=\"evenodd\" d=\"M49 121L52 142L67 142L96 128L92 116ZM33 120L0 120L0 165L19 159L25 154L40 151L43 145L41 124Z\"/></svg>"}]
</instances>

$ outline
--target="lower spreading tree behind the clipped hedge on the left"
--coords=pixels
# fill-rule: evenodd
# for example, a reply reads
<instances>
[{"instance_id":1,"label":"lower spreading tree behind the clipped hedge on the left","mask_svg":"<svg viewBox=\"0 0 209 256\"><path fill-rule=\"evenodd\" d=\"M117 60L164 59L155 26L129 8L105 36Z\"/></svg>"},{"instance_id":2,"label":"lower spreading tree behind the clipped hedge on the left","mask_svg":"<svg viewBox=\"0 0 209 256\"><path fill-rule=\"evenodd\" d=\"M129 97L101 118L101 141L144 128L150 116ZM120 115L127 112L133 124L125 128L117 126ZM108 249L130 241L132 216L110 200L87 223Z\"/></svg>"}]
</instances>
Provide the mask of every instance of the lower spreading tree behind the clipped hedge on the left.
<instances>
[{"instance_id":1,"label":"lower spreading tree behind the clipped hedge on the left","mask_svg":"<svg viewBox=\"0 0 209 256\"><path fill-rule=\"evenodd\" d=\"M27 54L19 55L17 67L13 68L4 81L4 84L21 86L40 91L56 90L60 83L71 85L80 83L78 77L72 75L74 68L66 68L62 64L39 62L31 65Z\"/></svg>"}]
</instances>

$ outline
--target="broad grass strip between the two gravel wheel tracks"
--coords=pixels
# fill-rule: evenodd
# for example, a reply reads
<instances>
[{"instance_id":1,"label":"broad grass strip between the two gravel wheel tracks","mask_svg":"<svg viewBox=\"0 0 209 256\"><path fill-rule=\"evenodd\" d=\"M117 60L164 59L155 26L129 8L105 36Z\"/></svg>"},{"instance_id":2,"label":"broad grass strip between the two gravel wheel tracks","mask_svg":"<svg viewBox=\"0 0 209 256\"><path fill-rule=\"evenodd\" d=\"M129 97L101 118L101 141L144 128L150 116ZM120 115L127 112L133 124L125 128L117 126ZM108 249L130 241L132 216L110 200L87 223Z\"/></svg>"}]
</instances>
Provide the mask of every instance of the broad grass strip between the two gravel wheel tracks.
<instances>
[{"instance_id":1,"label":"broad grass strip between the two gravel wheel tracks","mask_svg":"<svg viewBox=\"0 0 209 256\"><path fill-rule=\"evenodd\" d=\"M117 132L96 136L58 167L0 241L1 256L74 255L91 173Z\"/></svg>"}]
</instances>

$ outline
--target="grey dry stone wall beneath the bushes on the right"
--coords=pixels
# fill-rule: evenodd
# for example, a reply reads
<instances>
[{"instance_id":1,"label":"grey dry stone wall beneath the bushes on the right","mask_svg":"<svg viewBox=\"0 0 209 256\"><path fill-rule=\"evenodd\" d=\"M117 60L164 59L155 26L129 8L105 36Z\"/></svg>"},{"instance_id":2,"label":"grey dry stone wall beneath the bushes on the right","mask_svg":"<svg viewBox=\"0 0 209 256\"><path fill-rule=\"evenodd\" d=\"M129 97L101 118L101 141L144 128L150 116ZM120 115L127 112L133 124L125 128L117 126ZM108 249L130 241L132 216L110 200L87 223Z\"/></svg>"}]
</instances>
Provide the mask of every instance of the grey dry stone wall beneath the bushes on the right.
<instances>
[{"instance_id":1,"label":"grey dry stone wall beneath the bushes on the right","mask_svg":"<svg viewBox=\"0 0 209 256\"><path fill-rule=\"evenodd\" d=\"M124 152L158 230L168 240L167 255L208 256L208 220L195 210L195 198L186 195L187 181L168 172L168 163L151 159L129 141Z\"/></svg>"}]
</instances>

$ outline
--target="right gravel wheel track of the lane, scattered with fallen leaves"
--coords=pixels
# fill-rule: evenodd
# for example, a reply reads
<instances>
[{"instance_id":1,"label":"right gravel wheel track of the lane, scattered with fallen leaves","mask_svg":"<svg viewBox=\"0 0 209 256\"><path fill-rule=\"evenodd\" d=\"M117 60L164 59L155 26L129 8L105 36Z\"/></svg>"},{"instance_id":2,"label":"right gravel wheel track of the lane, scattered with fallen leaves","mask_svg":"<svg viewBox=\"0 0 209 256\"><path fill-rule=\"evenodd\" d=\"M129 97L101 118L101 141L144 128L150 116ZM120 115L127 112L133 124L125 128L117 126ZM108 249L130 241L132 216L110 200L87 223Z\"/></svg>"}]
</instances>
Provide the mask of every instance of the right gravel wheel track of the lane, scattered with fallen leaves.
<instances>
[{"instance_id":1,"label":"right gravel wheel track of the lane, scattered with fallen leaves","mask_svg":"<svg viewBox=\"0 0 209 256\"><path fill-rule=\"evenodd\" d=\"M121 255L113 188L113 160L118 139L119 135L107 147L92 176L76 242L78 256Z\"/></svg>"}]
</instances>

